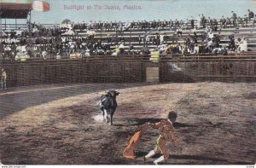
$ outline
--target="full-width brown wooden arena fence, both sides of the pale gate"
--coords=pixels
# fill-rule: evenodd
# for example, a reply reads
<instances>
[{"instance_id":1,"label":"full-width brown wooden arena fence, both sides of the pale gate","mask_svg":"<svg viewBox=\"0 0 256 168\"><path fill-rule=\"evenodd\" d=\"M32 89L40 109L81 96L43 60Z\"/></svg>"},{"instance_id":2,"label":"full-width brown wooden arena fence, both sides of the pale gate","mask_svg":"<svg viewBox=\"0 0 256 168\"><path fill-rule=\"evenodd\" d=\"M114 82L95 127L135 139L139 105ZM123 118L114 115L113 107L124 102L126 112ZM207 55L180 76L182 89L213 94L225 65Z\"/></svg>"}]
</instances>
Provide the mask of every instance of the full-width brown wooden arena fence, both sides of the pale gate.
<instances>
[{"instance_id":1,"label":"full-width brown wooden arena fence, both sides of the pale gate","mask_svg":"<svg viewBox=\"0 0 256 168\"><path fill-rule=\"evenodd\" d=\"M8 86L76 83L138 82L255 82L256 57L95 56L73 60L0 61L8 73Z\"/></svg>"}]
</instances>

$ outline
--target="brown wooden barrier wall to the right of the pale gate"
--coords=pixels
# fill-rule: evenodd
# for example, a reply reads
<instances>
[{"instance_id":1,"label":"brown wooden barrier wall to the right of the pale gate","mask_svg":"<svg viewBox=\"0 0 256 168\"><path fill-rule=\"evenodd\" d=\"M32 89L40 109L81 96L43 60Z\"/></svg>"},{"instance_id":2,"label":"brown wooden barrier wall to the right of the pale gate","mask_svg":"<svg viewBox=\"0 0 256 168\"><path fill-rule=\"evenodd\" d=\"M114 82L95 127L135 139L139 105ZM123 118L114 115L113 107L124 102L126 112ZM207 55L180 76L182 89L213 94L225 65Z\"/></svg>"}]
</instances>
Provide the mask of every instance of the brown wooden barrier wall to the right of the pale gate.
<instances>
[{"instance_id":1,"label":"brown wooden barrier wall to the right of the pale gate","mask_svg":"<svg viewBox=\"0 0 256 168\"><path fill-rule=\"evenodd\" d=\"M254 61L160 61L160 82L256 82Z\"/></svg>"}]
</instances>

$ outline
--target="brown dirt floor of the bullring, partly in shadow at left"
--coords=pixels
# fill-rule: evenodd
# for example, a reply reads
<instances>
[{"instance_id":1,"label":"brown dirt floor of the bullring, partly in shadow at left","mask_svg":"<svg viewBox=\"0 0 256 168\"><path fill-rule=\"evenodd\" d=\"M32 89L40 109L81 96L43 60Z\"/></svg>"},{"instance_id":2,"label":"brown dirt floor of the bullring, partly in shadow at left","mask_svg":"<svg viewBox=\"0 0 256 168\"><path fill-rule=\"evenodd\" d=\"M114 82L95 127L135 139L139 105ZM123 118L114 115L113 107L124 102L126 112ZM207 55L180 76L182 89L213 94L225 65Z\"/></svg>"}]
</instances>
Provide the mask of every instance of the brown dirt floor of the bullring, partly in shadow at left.
<instances>
[{"instance_id":1,"label":"brown dirt floor of the bullring, partly in shadow at left","mask_svg":"<svg viewBox=\"0 0 256 168\"><path fill-rule=\"evenodd\" d=\"M120 90L113 126L96 123L99 91ZM158 130L137 159L122 152L146 122L177 111L178 148L166 165L254 165L256 84L55 84L0 90L0 162L4 165L143 165ZM156 156L157 157L157 156ZM149 159L147 165L151 165Z\"/></svg>"}]
</instances>

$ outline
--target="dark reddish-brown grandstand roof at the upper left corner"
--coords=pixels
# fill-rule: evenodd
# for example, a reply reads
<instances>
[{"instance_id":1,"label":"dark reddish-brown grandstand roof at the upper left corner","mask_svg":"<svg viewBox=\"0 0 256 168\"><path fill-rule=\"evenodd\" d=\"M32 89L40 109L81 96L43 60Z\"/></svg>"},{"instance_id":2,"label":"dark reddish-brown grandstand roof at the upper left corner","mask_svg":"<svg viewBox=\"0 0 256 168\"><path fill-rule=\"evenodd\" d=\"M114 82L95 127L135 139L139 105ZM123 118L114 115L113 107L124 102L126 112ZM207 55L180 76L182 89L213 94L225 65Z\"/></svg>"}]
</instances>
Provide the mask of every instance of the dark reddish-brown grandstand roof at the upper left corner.
<instances>
[{"instance_id":1,"label":"dark reddish-brown grandstand roof at the upper left corner","mask_svg":"<svg viewBox=\"0 0 256 168\"><path fill-rule=\"evenodd\" d=\"M32 3L0 3L0 16L6 19L26 19Z\"/></svg>"}]
</instances>

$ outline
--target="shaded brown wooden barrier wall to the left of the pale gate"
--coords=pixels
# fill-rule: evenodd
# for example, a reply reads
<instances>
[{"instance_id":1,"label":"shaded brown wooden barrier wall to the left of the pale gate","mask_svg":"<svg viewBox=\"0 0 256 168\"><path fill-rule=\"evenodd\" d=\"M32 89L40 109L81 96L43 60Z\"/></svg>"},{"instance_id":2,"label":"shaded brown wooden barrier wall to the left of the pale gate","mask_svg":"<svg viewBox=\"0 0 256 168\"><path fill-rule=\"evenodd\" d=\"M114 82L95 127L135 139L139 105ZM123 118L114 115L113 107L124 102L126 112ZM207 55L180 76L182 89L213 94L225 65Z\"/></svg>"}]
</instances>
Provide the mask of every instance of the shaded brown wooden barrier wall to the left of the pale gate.
<instances>
[{"instance_id":1,"label":"shaded brown wooden barrier wall to the left of the pale gate","mask_svg":"<svg viewBox=\"0 0 256 168\"><path fill-rule=\"evenodd\" d=\"M61 83L136 83L146 81L145 63L125 61L2 62L8 87Z\"/></svg>"}]
</instances>

